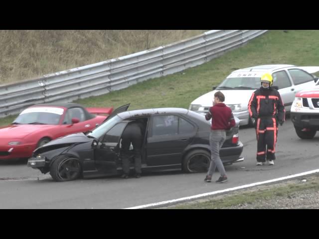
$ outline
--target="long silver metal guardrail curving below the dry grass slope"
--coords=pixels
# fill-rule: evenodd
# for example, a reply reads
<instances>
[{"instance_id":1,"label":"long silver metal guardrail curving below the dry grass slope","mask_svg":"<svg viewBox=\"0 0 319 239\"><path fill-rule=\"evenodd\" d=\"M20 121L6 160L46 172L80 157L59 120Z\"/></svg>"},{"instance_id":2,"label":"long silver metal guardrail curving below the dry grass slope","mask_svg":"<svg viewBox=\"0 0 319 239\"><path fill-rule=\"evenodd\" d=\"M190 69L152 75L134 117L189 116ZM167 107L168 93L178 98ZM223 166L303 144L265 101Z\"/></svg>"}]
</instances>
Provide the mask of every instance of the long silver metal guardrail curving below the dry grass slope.
<instances>
[{"instance_id":1,"label":"long silver metal guardrail curving below the dry grass slope","mask_svg":"<svg viewBox=\"0 0 319 239\"><path fill-rule=\"evenodd\" d=\"M267 30L211 30L131 55L0 86L0 117L34 104L72 102L120 90L210 61Z\"/></svg>"}]
</instances>

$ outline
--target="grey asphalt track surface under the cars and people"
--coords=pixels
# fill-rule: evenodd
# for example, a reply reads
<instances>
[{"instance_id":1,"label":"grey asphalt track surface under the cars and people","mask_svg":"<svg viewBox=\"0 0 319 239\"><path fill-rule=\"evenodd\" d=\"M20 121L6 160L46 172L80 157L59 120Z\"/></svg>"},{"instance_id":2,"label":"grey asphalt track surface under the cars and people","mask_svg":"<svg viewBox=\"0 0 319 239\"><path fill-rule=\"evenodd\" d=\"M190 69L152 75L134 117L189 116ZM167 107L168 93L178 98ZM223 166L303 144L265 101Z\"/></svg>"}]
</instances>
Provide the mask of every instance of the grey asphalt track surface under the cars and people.
<instances>
[{"instance_id":1,"label":"grey asphalt track surface under the cars and people","mask_svg":"<svg viewBox=\"0 0 319 239\"><path fill-rule=\"evenodd\" d=\"M205 173L166 171L139 179L103 177L54 182L26 162L0 162L0 209L124 209L222 191L319 169L319 133L300 139L290 119L279 126L274 166L256 166L254 128L241 127L245 160L226 166L228 183L205 183ZM219 177L218 171L213 180Z\"/></svg>"}]
</instances>

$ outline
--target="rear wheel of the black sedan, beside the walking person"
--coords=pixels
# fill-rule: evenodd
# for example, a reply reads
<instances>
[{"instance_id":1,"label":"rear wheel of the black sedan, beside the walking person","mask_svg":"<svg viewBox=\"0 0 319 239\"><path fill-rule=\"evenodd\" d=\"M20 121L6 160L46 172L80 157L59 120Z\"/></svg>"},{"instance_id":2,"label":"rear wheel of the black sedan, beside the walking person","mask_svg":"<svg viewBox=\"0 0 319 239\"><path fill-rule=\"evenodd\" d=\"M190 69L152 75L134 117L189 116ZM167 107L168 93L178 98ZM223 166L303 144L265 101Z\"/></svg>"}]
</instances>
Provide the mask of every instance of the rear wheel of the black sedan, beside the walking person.
<instances>
[{"instance_id":1,"label":"rear wheel of the black sedan, beside the walking person","mask_svg":"<svg viewBox=\"0 0 319 239\"><path fill-rule=\"evenodd\" d=\"M210 152L207 150L192 150L184 156L182 170L186 173L207 172L210 160Z\"/></svg>"}]
</instances>

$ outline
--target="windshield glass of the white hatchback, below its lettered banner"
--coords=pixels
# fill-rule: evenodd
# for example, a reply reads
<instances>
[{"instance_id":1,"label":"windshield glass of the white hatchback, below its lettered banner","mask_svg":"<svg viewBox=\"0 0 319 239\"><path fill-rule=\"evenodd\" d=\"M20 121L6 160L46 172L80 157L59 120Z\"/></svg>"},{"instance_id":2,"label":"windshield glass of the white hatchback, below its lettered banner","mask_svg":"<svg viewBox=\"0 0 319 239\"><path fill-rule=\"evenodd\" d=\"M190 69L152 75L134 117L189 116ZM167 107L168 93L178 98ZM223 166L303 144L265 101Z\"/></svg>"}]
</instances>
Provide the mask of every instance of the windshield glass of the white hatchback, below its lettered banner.
<instances>
[{"instance_id":1,"label":"windshield glass of the white hatchback, below its lettered banner","mask_svg":"<svg viewBox=\"0 0 319 239\"><path fill-rule=\"evenodd\" d=\"M259 77L233 77L226 78L217 89L259 89L260 88L260 78Z\"/></svg>"}]
</instances>

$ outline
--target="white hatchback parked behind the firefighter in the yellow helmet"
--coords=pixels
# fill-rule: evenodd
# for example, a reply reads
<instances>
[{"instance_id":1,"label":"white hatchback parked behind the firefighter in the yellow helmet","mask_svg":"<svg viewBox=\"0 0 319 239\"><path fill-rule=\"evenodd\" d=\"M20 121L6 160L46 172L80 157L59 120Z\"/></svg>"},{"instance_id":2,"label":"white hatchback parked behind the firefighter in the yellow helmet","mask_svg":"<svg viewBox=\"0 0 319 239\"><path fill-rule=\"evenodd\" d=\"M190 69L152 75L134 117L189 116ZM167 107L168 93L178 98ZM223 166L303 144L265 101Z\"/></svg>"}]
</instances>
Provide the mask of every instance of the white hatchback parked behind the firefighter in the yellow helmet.
<instances>
[{"instance_id":1,"label":"white hatchback parked behind the firefighter in the yellow helmet","mask_svg":"<svg viewBox=\"0 0 319 239\"><path fill-rule=\"evenodd\" d=\"M248 112L248 102L252 93L261 87L260 77L264 73L273 76L274 84L279 90L286 113L290 112L295 94L305 88L315 86L318 66L298 67L294 65L260 65L233 71L218 87L194 100L189 110L206 114L212 106L214 94L221 91L225 95L225 105L231 108L233 115L240 120L240 125L254 124Z\"/></svg>"}]
</instances>

